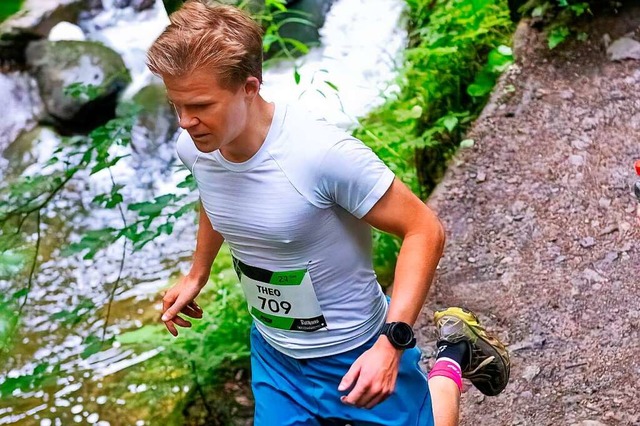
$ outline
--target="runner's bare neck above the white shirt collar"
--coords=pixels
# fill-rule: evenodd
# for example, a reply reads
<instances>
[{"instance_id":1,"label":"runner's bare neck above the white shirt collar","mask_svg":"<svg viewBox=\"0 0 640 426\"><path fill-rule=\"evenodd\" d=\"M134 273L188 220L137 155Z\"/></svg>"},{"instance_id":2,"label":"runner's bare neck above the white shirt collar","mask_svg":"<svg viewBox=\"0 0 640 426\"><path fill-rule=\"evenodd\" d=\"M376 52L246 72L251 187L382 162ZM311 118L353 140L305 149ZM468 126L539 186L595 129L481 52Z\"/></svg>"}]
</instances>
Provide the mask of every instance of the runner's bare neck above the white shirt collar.
<instances>
[{"instance_id":1,"label":"runner's bare neck above the white shirt collar","mask_svg":"<svg viewBox=\"0 0 640 426\"><path fill-rule=\"evenodd\" d=\"M220 148L224 158L242 163L253 157L267 138L274 111L275 105L258 95L251 105L245 131L232 143Z\"/></svg>"}]
</instances>

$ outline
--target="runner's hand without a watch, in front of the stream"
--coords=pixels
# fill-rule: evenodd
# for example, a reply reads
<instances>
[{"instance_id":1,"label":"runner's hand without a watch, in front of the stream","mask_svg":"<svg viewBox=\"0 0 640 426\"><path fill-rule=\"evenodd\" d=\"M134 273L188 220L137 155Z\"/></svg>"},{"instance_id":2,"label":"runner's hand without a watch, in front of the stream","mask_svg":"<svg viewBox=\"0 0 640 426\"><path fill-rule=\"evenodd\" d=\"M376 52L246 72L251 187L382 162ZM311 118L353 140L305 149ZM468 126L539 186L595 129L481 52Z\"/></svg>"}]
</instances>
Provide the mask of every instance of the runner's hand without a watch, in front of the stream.
<instances>
[{"instance_id":1,"label":"runner's hand without a watch, in front of the stream","mask_svg":"<svg viewBox=\"0 0 640 426\"><path fill-rule=\"evenodd\" d=\"M174 337L178 335L176 325L191 327L191 323L180 317L179 313L191 318L202 318L202 308L194 300L200 290L202 290L202 284L187 275L171 287L162 298L162 321Z\"/></svg>"}]
</instances>

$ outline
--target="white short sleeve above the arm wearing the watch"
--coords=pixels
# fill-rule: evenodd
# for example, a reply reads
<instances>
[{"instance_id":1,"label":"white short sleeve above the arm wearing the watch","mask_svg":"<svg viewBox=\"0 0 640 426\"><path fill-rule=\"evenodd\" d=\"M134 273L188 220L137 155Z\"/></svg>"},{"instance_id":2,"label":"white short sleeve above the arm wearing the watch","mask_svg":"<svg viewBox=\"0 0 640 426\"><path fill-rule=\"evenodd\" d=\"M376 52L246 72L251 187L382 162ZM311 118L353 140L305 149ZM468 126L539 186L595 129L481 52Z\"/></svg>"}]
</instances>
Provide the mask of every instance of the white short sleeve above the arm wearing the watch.
<instances>
[{"instance_id":1,"label":"white short sleeve above the arm wearing the watch","mask_svg":"<svg viewBox=\"0 0 640 426\"><path fill-rule=\"evenodd\" d=\"M321 164L320 196L362 218L393 182L393 172L358 139L344 139L331 147Z\"/></svg>"}]
</instances>

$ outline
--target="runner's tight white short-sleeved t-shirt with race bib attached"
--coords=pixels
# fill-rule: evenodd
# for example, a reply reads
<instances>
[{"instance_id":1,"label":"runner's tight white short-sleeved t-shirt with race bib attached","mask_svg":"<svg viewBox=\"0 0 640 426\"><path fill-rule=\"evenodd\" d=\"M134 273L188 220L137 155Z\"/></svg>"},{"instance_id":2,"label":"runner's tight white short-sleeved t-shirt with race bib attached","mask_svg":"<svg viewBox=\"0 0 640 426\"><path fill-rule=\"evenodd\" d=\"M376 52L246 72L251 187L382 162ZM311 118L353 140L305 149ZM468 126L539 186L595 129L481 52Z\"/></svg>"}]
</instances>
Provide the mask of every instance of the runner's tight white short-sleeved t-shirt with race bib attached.
<instances>
[{"instance_id":1,"label":"runner's tight white short-sleeved t-shirt with race bib attached","mask_svg":"<svg viewBox=\"0 0 640 426\"><path fill-rule=\"evenodd\" d=\"M361 220L394 175L361 141L276 105L259 151L243 163L177 152L197 182L213 228L229 244L249 310L265 340L294 358L364 344L386 318Z\"/></svg>"}]
</instances>

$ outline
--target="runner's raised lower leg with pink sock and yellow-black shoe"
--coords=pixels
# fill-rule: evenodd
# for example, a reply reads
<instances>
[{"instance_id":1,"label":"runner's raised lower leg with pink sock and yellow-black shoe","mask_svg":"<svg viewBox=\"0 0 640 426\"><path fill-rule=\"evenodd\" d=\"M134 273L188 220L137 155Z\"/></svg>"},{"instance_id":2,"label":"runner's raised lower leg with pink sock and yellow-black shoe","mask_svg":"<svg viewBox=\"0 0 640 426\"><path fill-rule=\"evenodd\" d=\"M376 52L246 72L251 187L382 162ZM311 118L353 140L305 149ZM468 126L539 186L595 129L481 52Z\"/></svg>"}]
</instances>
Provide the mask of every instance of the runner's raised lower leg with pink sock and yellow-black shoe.
<instances>
[{"instance_id":1,"label":"runner's raised lower leg with pink sock and yellow-black shoe","mask_svg":"<svg viewBox=\"0 0 640 426\"><path fill-rule=\"evenodd\" d=\"M460 411L462 378L488 396L502 392L509 382L509 353L486 332L470 311L451 307L434 314L438 354L429 372L429 388L436 426L455 426Z\"/></svg>"}]
</instances>

